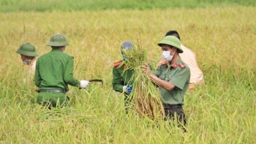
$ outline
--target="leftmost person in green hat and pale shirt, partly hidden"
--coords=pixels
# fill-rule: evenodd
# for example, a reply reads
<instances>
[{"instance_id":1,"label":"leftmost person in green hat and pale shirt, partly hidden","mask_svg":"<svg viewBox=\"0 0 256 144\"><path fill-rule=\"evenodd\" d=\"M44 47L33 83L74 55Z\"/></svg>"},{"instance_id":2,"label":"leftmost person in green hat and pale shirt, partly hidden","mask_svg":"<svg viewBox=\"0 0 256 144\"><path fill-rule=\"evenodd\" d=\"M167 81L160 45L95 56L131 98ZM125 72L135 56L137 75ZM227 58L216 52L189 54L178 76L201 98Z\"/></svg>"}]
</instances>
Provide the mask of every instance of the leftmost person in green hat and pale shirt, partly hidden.
<instances>
[{"instance_id":1,"label":"leftmost person in green hat and pale shirt, partly hidden","mask_svg":"<svg viewBox=\"0 0 256 144\"><path fill-rule=\"evenodd\" d=\"M36 48L34 48L34 45L26 42L20 45L20 48L16 51L16 53L20 54L20 58L23 61L23 64L29 66L28 73L23 79L24 83L29 83L34 78L34 72L36 69L36 56L38 56Z\"/></svg>"}]
</instances>

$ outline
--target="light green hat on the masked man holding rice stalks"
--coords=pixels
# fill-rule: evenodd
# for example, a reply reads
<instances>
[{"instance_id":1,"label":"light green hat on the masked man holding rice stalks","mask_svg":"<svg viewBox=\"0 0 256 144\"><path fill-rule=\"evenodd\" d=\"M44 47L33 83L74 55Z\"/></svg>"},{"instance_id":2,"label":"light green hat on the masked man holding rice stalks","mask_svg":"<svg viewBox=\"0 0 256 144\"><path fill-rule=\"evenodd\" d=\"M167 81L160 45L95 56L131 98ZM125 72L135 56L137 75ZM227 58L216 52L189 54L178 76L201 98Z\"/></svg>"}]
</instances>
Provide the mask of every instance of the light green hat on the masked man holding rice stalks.
<instances>
[{"instance_id":1,"label":"light green hat on the masked man holding rice stalks","mask_svg":"<svg viewBox=\"0 0 256 144\"><path fill-rule=\"evenodd\" d=\"M161 45L171 45L178 48L178 53L183 53L183 50L181 48L181 41L174 36L166 36L164 39L162 39L161 42L158 42L157 45L159 45L160 47Z\"/></svg>"}]
</instances>

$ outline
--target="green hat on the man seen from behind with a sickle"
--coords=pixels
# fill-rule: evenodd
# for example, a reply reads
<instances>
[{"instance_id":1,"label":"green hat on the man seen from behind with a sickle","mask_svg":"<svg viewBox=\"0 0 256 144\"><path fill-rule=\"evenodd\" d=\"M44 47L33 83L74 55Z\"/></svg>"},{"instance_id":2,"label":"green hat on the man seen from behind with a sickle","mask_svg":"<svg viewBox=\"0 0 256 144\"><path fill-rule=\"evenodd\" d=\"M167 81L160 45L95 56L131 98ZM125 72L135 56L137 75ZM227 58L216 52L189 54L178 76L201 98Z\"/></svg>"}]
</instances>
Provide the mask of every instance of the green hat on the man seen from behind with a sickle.
<instances>
[{"instance_id":1,"label":"green hat on the man seen from behind with a sickle","mask_svg":"<svg viewBox=\"0 0 256 144\"><path fill-rule=\"evenodd\" d=\"M61 47L69 45L69 42L67 42L67 39L62 34L53 34L52 37L50 37L50 41L46 44L47 46L54 46L54 47Z\"/></svg>"}]
</instances>

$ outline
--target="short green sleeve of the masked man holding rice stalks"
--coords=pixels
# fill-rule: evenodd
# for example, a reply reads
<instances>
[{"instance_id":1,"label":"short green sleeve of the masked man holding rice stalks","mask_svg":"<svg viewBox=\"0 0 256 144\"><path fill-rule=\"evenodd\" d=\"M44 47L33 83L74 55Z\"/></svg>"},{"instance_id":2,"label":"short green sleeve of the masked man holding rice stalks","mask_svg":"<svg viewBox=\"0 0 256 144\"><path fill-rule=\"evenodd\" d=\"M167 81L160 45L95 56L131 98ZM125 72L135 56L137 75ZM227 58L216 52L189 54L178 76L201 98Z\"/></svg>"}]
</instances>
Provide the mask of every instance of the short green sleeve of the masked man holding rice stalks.
<instances>
[{"instance_id":1,"label":"short green sleeve of the masked man holding rice stalks","mask_svg":"<svg viewBox=\"0 0 256 144\"><path fill-rule=\"evenodd\" d=\"M189 82L189 78L189 67L185 67L184 69L178 69L178 72L170 78L170 83L173 83L174 86L183 90L185 84Z\"/></svg>"}]
</instances>

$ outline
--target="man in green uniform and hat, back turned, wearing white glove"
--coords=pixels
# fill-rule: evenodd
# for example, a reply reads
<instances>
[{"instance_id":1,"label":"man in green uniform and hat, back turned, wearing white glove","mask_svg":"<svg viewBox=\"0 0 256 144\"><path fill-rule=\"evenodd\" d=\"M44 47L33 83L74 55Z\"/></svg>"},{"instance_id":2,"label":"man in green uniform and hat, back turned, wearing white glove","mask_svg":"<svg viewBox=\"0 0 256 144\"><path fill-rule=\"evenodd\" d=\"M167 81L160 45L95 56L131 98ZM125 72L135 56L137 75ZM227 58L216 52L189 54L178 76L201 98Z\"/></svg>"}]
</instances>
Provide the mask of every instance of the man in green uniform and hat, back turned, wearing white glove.
<instances>
[{"instance_id":1,"label":"man in green uniform and hat, back turned, wearing white glove","mask_svg":"<svg viewBox=\"0 0 256 144\"><path fill-rule=\"evenodd\" d=\"M38 58L34 76L39 88L37 103L50 107L62 107L69 101L66 92L70 86L86 88L87 80L76 80L73 76L74 57L64 53L69 42L62 34L53 34L47 44L52 50Z\"/></svg>"}]
</instances>

